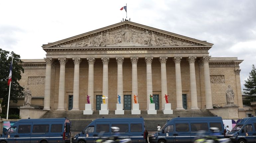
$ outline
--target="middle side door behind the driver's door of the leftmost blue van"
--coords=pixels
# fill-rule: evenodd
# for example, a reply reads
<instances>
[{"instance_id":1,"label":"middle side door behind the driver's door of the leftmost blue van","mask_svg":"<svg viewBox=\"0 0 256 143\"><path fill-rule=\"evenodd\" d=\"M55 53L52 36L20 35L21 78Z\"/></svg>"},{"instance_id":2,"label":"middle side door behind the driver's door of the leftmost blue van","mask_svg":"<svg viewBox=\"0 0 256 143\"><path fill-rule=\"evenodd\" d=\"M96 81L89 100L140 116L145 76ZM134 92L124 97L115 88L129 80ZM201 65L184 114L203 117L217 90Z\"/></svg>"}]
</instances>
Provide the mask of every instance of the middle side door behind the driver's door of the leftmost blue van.
<instances>
[{"instance_id":1,"label":"middle side door behind the driver's door of the leftmost blue van","mask_svg":"<svg viewBox=\"0 0 256 143\"><path fill-rule=\"evenodd\" d=\"M18 134L16 136L16 142L18 143L30 143L31 140L31 126L32 123L21 123L18 126Z\"/></svg>"}]
</instances>

